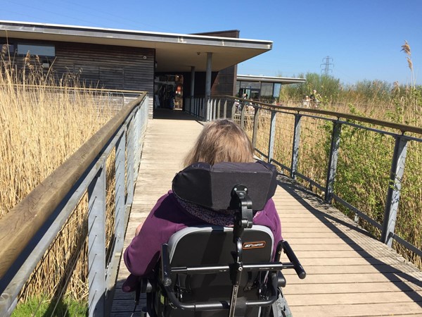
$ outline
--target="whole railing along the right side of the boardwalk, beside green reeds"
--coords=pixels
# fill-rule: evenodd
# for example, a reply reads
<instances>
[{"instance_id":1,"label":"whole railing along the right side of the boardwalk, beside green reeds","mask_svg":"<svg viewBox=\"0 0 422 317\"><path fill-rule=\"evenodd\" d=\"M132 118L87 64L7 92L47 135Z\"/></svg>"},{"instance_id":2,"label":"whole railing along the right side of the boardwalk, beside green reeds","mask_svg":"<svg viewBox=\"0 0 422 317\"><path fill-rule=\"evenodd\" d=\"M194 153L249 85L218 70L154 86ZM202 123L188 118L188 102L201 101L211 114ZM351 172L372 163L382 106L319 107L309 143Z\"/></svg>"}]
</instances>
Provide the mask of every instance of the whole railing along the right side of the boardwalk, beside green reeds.
<instances>
[{"instance_id":1,"label":"whole railing along the right side of the boardwalk, beside green reeds","mask_svg":"<svg viewBox=\"0 0 422 317\"><path fill-rule=\"evenodd\" d=\"M409 142L414 142L421 147L422 128L372 118L364 118L347 113L336 113L333 111L311 108L274 106L229 96L209 97L207 99L204 97L188 98L185 100L185 111L193 114L193 116L202 118L203 120L215 120L217 118L231 118L236 120L241 125L241 128L248 128L250 130L250 137L255 151L269 162L279 166L282 171L286 170L290 178L307 182L309 187L315 187L316 190L321 193L325 201L329 203L335 201L349 211L352 211L352 213L355 214L356 221L359 220L359 218L365 220L381 232L380 239L385 244L388 244L388 246L391 247L392 241L395 240L406 249L409 249L418 256L422 256L421 249L418 249L414 244L411 244L395 234L397 211L399 209L404 166L408 155ZM283 116L283 118L277 120L278 116ZM263 124L264 119L267 122L266 125ZM312 124L319 122L319 128L325 129L327 132L326 135L328 135L326 142L328 143L326 162L321 164L325 166L325 168L324 170L319 170L315 173L320 175L319 180L316 180L309 175L305 175L307 174L306 170L300 169L301 154L302 156L305 156L304 149L302 148L307 145L302 144L303 134L305 134L302 129L304 120L308 120L308 125L309 121L312 121ZM287 123L287 121L289 121L289 123ZM283 127L280 127L281 125L283 125ZM388 136L394 142L394 147L392 147L392 151L390 152L390 170L385 171L385 173L388 174L386 176L386 178L388 178L388 183L385 186L386 194L385 201L383 201L385 204L384 212L383 216L381 216L382 219L379 222L368 216L364 211L359 210L357 207L352 206L352 204L342 199L342 193L335 189L339 151L342 149L340 139L342 139L342 130L347 130L345 127L359 130L359 132L365 131L374 133L378 137ZM268 130L263 130L265 128ZM278 142L279 139L281 139L276 135L276 130L281 128L288 130L291 141L290 145L285 147L285 149L290 147L290 149L288 149L288 151L290 151L290 157L284 162L276 160L277 153L275 149L276 141ZM308 139L315 137L312 135L313 132L311 132ZM350 133L353 133L353 131ZM257 147L258 135L266 136L263 148ZM283 142L285 142L284 139ZM366 151L375 150L376 149L366 149ZM350 166L350 168L355 167Z\"/></svg>"}]
</instances>

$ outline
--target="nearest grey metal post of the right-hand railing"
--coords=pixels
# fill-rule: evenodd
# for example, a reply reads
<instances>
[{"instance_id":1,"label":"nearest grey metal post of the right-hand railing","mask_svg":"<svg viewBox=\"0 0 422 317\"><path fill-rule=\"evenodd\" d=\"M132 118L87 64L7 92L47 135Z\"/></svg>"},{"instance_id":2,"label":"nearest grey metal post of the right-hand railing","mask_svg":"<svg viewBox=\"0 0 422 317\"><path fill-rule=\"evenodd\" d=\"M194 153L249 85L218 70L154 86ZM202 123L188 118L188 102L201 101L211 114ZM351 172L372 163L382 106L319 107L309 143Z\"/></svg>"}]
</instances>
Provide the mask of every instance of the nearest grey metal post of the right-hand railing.
<instances>
[{"instance_id":1,"label":"nearest grey metal post of the right-hand railing","mask_svg":"<svg viewBox=\"0 0 422 317\"><path fill-rule=\"evenodd\" d=\"M387 200L385 202L383 231L381 232L381 241L387 244L388 247L392 246L392 234L395 230L406 156L407 139L397 136L395 140L394 153L392 155L390 187L388 187Z\"/></svg>"}]
</instances>

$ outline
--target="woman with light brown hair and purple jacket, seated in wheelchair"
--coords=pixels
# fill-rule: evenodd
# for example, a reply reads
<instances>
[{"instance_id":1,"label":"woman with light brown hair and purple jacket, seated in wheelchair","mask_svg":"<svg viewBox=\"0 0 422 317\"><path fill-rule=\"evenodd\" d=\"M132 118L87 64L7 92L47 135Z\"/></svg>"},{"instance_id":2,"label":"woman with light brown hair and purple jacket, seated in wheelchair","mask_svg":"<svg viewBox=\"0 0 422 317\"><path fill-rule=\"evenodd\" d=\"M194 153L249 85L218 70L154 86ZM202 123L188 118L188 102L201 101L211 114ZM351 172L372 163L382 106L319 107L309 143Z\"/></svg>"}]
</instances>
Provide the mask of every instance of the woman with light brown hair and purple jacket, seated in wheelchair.
<instances>
[{"instance_id":1,"label":"woman with light brown hair and purple jacket, seated in wheelchair","mask_svg":"<svg viewBox=\"0 0 422 317\"><path fill-rule=\"evenodd\" d=\"M215 120L203 128L196 144L189 151L184 166L204 162L253 163L252 143L248 135L231 120ZM170 237L183 228L195 225L233 225L233 211L212 211L182 201L170 190L164 194L136 228L135 237L124 251L124 263L134 276L149 276L160 257L160 249ZM269 199L262 211L255 213L253 223L271 229L274 241L281 240L281 224L274 201ZM123 291L132 292L136 278L129 277Z\"/></svg>"}]
</instances>

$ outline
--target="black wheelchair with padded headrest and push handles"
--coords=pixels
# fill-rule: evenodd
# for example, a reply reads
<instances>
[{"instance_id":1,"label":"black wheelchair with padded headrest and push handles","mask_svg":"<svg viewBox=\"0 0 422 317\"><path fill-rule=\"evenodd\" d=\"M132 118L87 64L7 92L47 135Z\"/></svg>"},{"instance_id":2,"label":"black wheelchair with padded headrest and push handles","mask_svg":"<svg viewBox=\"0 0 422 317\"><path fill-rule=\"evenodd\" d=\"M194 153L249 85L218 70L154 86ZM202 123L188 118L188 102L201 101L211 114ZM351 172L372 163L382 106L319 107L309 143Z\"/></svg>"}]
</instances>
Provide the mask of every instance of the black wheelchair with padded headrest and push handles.
<instances>
[{"instance_id":1,"label":"black wheelchair with padded headrest and push handles","mask_svg":"<svg viewBox=\"0 0 422 317\"><path fill-rule=\"evenodd\" d=\"M180 199L208 209L236 210L233 227L189 227L162 244L153 278L141 278L144 316L291 316L281 287L284 269L306 273L288 242L252 225L274 195L276 168L269 163L196 163L172 182ZM274 250L274 245L276 249ZM288 263L280 261L286 253Z\"/></svg>"}]
</instances>

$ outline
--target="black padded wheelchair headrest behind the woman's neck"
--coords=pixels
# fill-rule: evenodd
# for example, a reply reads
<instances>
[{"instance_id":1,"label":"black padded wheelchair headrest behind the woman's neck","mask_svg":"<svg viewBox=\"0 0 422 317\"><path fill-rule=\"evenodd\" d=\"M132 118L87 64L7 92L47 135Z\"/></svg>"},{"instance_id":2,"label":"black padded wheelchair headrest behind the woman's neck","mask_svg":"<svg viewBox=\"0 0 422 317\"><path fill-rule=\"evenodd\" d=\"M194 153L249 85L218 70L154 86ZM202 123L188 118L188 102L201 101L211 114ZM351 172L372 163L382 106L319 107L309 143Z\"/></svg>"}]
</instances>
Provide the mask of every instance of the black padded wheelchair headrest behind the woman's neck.
<instances>
[{"instance_id":1,"label":"black padded wheelchair headrest behind the woman's neck","mask_svg":"<svg viewBox=\"0 0 422 317\"><path fill-rule=\"evenodd\" d=\"M230 209L231 191L237 185L248 188L252 210L264 209L277 187L277 170L263 161L255 163L194 163L173 179L174 194L184 201L214 210Z\"/></svg>"}]
</instances>

